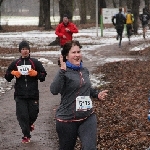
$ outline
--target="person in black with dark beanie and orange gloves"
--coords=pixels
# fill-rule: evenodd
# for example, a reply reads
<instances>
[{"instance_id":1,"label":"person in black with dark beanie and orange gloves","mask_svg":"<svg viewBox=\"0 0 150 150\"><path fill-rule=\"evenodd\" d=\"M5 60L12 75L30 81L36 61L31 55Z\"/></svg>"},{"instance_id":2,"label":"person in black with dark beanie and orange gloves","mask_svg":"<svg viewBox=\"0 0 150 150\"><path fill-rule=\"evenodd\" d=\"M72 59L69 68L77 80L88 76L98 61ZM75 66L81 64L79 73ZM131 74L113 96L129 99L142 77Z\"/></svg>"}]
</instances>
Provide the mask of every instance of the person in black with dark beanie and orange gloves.
<instances>
[{"instance_id":1,"label":"person in black with dark beanie and orange gloves","mask_svg":"<svg viewBox=\"0 0 150 150\"><path fill-rule=\"evenodd\" d=\"M22 143L29 143L30 132L34 130L34 122L39 113L38 80L45 81L47 73L40 61L30 57L30 46L27 41L19 44L19 52L21 57L8 66L5 79L11 82L14 77L16 78L16 116L24 135Z\"/></svg>"}]
</instances>

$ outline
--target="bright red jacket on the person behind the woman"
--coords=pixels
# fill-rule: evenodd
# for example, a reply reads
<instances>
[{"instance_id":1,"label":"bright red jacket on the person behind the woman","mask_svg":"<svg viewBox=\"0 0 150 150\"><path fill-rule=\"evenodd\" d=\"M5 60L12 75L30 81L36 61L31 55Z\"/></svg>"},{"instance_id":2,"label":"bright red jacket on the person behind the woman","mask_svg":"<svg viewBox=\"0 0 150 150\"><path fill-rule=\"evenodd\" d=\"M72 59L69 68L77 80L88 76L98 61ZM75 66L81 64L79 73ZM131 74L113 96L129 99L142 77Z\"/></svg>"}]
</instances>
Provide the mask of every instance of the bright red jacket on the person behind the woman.
<instances>
[{"instance_id":1,"label":"bright red jacket on the person behind the woman","mask_svg":"<svg viewBox=\"0 0 150 150\"><path fill-rule=\"evenodd\" d=\"M68 28L70 31L66 32L65 28ZM60 45L63 46L67 41L72 40L72 34L78 33L78 29L75 24L72 22L69 22L67 25L64 25L64 23L60 23L55 31L55 34L58 35L60 38ZM66 36L66 38L63 38L63 35Z\"/></svg>"}]
</instances>

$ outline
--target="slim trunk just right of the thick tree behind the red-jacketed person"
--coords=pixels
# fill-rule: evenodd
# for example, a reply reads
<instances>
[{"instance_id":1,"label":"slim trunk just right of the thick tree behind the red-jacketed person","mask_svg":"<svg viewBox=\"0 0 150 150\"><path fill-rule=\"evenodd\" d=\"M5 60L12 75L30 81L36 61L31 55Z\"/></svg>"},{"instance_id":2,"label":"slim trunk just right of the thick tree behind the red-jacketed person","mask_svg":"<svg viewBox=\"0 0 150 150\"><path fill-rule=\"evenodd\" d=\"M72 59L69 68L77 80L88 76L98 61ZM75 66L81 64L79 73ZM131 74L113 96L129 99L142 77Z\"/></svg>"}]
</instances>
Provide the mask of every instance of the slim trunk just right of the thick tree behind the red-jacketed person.
<instances>
[{"instance_id":1,"label":"slim trunk just right of the thick tree behind the red-jacketed person","mask_svg":"<svg viewBox=\"0 0 150 150\"><path fill-rule=\"evenodd\" d=\"M80 0L79 4L80 23L86 24L86 0Z\"/></svg>"}]
</instances>

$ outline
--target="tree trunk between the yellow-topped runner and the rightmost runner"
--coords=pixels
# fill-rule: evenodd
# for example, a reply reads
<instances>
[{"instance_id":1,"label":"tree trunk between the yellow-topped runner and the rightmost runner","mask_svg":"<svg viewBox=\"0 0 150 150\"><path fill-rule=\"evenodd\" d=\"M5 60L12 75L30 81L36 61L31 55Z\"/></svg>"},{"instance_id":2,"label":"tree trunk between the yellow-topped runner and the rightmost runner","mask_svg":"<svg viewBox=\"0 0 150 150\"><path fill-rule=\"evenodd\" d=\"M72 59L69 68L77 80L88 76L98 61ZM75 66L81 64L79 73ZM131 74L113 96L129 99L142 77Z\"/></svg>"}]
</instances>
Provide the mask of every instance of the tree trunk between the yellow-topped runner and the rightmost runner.
<instances>
[{"instance_id":1,"label":"tree trunk between the yellow-topped runner and the rightmost runner","mask_svg":"<svg viewBox=\"0 0 150 150\"><path fill-rule=\"evenodd\" d=\"M133 28L134 28L134 33L137 34L138 32L138 20L139 20L139 6L140 6L140 0L133 0L132 1L132 12L134 14L134 23L133 23Z\"/></svg>"}]
</instances>

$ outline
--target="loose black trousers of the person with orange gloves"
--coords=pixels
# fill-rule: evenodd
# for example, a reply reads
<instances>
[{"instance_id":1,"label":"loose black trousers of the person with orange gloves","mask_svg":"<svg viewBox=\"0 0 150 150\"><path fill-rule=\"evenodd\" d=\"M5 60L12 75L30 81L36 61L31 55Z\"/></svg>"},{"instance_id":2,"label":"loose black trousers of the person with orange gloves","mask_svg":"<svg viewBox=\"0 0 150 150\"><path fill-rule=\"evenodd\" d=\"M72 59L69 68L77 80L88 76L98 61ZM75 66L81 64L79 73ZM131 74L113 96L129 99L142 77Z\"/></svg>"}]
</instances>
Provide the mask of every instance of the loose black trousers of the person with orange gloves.
<instances>
[{"instance_id":1,"label":"loose black trousers of the person with orange gloves","mask_svg":"<svg viewBox=\"0 0 150 150\"><path fill-rule=\"evenodd\" d=\"M36 121L39 113L39 102L36 100L18 99L16 101L16 116L24 137L30 138L30 126Z\"/></svg>"}]
</instances>

